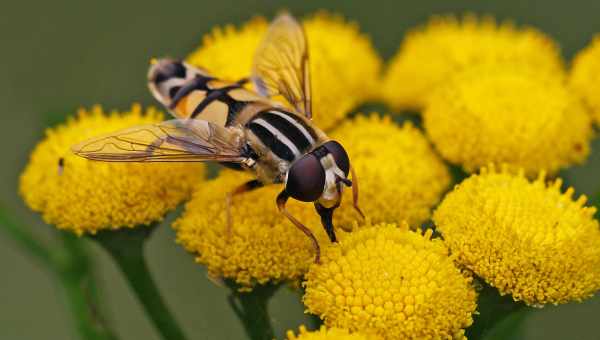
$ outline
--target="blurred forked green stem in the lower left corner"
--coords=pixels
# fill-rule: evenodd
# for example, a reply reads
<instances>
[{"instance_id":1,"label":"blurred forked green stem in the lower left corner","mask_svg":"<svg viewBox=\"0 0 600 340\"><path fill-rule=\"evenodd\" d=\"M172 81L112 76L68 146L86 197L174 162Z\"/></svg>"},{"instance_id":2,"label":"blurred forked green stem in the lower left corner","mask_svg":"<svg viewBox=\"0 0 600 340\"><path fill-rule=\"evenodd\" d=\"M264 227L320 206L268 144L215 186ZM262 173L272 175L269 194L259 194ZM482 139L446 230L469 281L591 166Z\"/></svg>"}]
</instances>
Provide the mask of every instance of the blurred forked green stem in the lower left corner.
<instances>
[{"instance_id":1,"label":"blurred forked green stem in the lower left corner","mask_svg":"<svg viewBox=\"0 0 600 340\"><path fill-rule=\"evenodd\" d=\"M78 243L80 240L66 232L57 231L63 238L65 247L60 251L51 251L1 206L0 225L61 283L68 310L82 339L116 339L110 329L101 322L100 314L92 305L92 301L97 300L96 292L89 289L90 284L93 284L92 264L84 247Z\"/></svg>"}]
</instances>

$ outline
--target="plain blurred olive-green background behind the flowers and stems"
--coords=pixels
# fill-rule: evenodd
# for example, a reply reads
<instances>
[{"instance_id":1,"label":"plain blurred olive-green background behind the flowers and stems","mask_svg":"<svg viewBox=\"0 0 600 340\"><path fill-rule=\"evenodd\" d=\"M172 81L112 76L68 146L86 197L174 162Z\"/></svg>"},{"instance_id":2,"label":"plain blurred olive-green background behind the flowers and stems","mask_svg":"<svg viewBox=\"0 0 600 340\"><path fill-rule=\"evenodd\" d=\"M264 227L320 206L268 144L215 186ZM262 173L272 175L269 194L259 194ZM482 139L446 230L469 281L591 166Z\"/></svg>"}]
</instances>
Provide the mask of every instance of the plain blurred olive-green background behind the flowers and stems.
<instances>
[{"instance_id":1,"label":"plain blurred olive-green background behind the flowers and stems","mask_svg":"<svg viewBox=\"0 0 600 340\"><path fill-rule=\"evenodd\" d=\"M360 23L389 58L412 26L436 13L471 11L537 26L554 37L566 58L600 32L599 1L20 1L0 14L0 200L36 233L54 242L49 227L17 195L20 171L49 124L79 106L125 109L155 104L146 90L151 56L183 57L215 25L287 8L301 16L329 9ZM236 51L231 51L236 53ZM350 66L351 67L351 66ZM217 71L218 74L218 71ZM599 79L600 81L600 79ZM599 143L595 143L597 151ZM562 175L578 193L600 189L600 153ZM226 289L173 242L168 223L147 249L152 273L190 339L243 339L225 303ZM95 245L108 319L122 339L159 339L117 268ZM75 339L62 290L32 258L0 232L0 339ZM279 337L306 319L296 293L282 289L271 304ZM526 320L524 339L600 339L600 298L546 307Z\"/></svg>"}]
</instances>

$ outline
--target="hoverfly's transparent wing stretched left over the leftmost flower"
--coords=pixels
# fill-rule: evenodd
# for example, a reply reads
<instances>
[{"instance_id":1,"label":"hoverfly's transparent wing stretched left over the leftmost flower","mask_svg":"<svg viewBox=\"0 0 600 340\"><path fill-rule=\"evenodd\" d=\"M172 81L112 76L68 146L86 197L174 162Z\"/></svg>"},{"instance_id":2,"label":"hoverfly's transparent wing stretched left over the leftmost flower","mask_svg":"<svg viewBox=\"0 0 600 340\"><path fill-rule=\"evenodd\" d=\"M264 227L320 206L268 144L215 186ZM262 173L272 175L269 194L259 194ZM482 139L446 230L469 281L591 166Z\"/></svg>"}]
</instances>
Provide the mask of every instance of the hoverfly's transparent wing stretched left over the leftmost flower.
<instances>
[{"instance_id":1,"label":"hoverfly's transparent wing stretched left over the leftmost flower","mask_svg":"<svg viewBox=\"0 0 600 340\"><path fill-rule=\"evenodd\" d=\"M106 162L242 162L239 130L199 119L173 119L93 138L75 154Z\"/></svg>"}]
</instances>

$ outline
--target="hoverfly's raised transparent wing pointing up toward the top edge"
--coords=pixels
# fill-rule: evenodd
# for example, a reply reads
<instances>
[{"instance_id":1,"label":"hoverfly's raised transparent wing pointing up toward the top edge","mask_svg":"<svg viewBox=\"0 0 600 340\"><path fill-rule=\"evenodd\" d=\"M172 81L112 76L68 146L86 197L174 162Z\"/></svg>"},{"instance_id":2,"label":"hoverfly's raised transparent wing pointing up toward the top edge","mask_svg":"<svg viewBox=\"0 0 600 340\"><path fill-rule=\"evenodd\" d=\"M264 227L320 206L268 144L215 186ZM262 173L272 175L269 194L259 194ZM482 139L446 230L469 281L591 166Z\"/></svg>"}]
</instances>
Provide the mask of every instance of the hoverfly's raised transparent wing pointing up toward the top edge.
<instances>
[{"instance_id":1,"label":"hoverfly's raised transparent wing pointing up toward the top edge","mask_svg":"<svg viewBox=\"0 0 600 340\"><path fill-rule=\"evenodd\" d=\"M281 95L312 117L308 45L302 26L291 15L280 14L271 23L254 57L252 81L261 95Z\"/></svg>"}]
</instances>

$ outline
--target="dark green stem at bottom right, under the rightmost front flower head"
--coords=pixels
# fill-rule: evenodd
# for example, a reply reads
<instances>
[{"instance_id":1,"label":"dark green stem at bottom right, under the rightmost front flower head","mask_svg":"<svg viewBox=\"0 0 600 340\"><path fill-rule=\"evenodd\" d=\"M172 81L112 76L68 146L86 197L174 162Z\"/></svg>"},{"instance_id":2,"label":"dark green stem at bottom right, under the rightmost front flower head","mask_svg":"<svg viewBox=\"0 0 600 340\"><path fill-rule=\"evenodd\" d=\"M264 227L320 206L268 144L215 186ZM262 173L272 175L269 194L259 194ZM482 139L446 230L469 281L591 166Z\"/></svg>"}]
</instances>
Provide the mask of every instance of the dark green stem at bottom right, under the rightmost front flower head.
<instances>
[{"instance_id":1,"label":"dark green stem at bottom right, under the rightmost front flower head","mask_svg":"<svg viewBox=\"0 0 600 340\"><path fill-rule=\"evenodd\" d=\"M483 339L501 321L514 313L524 312L526 305L514 301L510 295L501 296L496 288L483 284L483 289L479 292L477 310L479 315L475 316L473 325L466 330L469 340Z\"/></svg>"}]
</instances>

